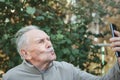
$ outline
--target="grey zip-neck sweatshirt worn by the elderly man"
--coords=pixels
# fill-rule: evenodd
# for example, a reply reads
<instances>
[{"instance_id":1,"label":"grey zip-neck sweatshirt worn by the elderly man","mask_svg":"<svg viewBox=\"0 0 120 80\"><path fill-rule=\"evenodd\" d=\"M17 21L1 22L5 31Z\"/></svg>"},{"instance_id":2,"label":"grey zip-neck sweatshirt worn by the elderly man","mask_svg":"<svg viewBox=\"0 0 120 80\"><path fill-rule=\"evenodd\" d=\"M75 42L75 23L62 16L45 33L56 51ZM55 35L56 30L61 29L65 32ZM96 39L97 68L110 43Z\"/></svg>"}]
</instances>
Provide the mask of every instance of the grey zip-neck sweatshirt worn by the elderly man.
<instances>
[{"instance_id":1,"label":"grey zip-neck sweatshirt worn by the elderly man","mask_svg":"<svg viewBox=\"0 0 120 80\"><path fill-rule=\"evenodd\" d=\"M67 62L53 61L47 70L40 71L23 61L3 75L2 80L120 80L120 69L116 63L106 75L94 76Z\"/></svg>"}]
</instances>

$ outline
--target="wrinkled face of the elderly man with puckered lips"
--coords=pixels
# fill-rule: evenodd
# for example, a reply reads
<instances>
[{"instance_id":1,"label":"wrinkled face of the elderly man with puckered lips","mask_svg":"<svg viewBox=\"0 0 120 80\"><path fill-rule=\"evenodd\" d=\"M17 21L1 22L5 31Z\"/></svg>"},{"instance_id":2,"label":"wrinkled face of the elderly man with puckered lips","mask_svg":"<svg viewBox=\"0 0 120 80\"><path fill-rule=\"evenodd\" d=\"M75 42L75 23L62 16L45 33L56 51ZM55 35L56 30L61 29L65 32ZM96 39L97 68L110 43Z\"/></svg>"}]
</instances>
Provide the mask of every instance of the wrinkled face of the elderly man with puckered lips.
<instances>
[{"instance_id":1,"label":"wrinkled face of the elderly man with puckered lips","mask_svg":"<svg viewBox=\"0 0 120 80\"><path fill-rule=\"evenodd\" d=\"M27 60L31 63L51 62L56 59L49 36L41 30L31 30L26 33L28 39Z\"/></svg>"}]
</instances>

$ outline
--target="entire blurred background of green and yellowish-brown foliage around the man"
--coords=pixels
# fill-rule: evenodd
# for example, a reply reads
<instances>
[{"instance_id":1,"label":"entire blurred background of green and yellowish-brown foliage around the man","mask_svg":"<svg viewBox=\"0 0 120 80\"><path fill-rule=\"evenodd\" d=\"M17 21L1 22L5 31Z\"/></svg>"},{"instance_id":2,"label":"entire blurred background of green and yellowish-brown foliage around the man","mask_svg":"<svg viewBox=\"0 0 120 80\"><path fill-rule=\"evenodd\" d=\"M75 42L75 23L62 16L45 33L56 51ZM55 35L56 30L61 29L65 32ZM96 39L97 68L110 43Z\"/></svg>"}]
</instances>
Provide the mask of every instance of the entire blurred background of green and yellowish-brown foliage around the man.
<instances>
[{"instance_id":1,"label":"entire blurred background of green and yellowish-brown foliage around the man","mask_svg":"<svg viewBox=\"0 0 120 80\"><path fill-rule=\"evenodd\" d=\"M0 77L22 62L14 34L26 25L50 35L58 61L103 75L116 62L109 25L120 31L119 20L119 0L0 0Z\"/></svg>"}]
</instances>

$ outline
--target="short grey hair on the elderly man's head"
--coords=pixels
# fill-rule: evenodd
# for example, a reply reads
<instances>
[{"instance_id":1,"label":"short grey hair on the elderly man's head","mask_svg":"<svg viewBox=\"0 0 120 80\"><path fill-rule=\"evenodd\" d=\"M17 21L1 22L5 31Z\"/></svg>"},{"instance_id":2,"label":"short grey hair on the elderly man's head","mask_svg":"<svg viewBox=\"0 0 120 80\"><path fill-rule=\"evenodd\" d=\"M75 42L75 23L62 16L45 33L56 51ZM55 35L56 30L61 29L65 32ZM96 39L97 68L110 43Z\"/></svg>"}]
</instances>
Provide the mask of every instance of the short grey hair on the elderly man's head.
<instances>
[{"instance_id":1,"label":"short grey hair on the elderly man's head","mask_svg":"<svg viewBox=\"0 0 120 80\"><path fill-rule=\"evenodd\" d=\"M30 25L30 26L26 26L26 27L21 28L15 35L15 38L16 38L15 43L16 43L17 51L20 54L22 59L23 59L23 57L21 55L21 49L22 48L26 49L27 48L26 46L28 43L28 39L27 39L25 33L30 31L30 30L33 30L33 29L40 30L37 26Z\"/></svg>"}]
</instances>

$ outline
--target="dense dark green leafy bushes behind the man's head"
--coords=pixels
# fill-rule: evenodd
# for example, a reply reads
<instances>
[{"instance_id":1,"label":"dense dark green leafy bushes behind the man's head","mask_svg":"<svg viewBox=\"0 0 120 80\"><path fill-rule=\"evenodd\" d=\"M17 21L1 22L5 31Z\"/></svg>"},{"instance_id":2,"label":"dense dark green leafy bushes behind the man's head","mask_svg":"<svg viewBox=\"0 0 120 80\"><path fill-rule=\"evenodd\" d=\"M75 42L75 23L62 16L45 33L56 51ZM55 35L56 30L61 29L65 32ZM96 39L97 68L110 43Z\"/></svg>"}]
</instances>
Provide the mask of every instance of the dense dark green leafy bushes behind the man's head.
<instances>
[{"instance_id":1,"label":"dense dark green leafy bushes behind the man's head","mask_svg":"<svg viewBox=\"0 0 120 80\"><path fill-rule=\"evenodd\" d=\"M92 33L87 32L86 25L93 20L91 16L93 11L98 10L101 16L106 14L106 11L98 5L99 3L87 1L93 6L83 5L82 1L77 6L65 7L65 3L57 0L2 0L0 2L0 49L9 56L9 61L4 62L8 65L5 71L21 63L14 44L14 34L21 27L31 24L39 26L50 35L58 56L57 60L73 63L83 70L87 68L83 65L86 62L100 63L96 55L99 47L92 44L92 39L89 38ZM67 11L77 16L76 23L70 21L64 23L63 19ZM88 58L90 52L93 53L94 59Z\"/></svg>"}]
</instances>

